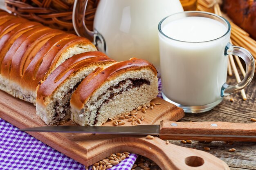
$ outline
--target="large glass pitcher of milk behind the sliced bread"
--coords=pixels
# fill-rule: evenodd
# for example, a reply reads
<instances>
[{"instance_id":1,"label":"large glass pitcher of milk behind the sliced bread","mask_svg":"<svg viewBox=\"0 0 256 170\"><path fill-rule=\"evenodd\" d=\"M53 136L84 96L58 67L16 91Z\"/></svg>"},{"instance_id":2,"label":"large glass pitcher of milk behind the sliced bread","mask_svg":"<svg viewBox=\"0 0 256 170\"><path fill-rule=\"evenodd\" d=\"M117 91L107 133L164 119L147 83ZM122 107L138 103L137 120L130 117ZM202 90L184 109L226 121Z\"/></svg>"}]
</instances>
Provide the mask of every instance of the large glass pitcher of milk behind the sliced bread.
<instances>
[{"instance_id":1,"label":"large glass pitcher of milk behind the sliced bread","mask_svg":"<svg viewBox=\"0 0 256 170\"><path fill-rule=\"evenodd\" d=\"M73 25L79 36L93 37L98 49L114 60L143 58L159 71L157 25L164 17L183 11L180 0L100 0L94 31L84 22L87 2L74 2Z\"/></svg>"}]
</instances>

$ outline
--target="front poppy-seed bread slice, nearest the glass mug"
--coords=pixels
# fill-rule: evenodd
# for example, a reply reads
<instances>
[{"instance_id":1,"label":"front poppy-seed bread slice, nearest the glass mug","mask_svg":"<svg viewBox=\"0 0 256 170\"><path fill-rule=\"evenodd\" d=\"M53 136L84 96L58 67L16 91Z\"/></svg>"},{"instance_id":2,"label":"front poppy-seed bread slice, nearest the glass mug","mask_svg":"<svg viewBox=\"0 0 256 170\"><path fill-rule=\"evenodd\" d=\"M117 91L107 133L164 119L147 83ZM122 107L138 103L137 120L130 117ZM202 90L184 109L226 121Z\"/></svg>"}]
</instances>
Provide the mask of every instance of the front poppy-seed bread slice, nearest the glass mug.
<instances>
[{"instance_id":1,"label":"front poppy-seed bread slice, nearest the glass mug","mask_svg":"<svg viewBox=\"0 0 256 170\"><path fill-rule=\"evenodd\" d=\"M97 68L74 91L71 120L81 126L100 126L150 102L157 94L157 71L146 60L131 58Z\"/></svg>"}]
</instances>

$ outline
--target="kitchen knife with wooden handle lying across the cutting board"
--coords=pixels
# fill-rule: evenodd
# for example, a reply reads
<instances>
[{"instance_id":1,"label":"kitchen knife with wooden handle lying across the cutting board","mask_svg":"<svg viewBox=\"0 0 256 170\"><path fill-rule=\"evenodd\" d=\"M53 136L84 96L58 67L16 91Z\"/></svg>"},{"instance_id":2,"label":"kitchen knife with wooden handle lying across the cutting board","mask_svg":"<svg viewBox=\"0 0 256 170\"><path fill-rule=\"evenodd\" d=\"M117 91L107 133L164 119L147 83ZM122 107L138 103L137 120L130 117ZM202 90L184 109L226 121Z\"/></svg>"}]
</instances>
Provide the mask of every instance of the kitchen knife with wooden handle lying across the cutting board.
<instances>
[{"instance_id":1,"label":"kitchen knife with wooden handle lying across the cutting board","mask_svg":"<svg viewBox=\"0 0 256 170\"><path fill-rule=\"evenodd\" d=\"M159 135L170 140L256 141L256 123L175 122L139 126L42 126L20 129L30 132L69 132L117 135Z\"/></svg>"}]
</instances>

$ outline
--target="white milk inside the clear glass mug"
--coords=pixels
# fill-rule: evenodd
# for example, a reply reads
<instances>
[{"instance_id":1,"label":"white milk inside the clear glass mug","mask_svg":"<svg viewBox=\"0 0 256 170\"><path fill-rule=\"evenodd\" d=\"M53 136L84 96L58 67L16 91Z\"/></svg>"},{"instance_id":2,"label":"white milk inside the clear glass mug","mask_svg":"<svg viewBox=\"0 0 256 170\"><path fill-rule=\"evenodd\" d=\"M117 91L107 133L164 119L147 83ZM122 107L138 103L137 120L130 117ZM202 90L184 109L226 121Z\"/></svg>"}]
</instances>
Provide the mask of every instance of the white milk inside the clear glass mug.
<instances>
[{"instance_id":1,"label":"white milk inside the clear glass mug","mask_svg":"<svg viewBox=\"0 0 256 170\"><path fill-rule=\"evenodd\" d=\"M175 39L159 33L164 95L186 106L202 106L219 100L227 79L224 50L229 36L222 37L227 27L210 18L187 17L163 24L162 32Z\"/></svg>"}]
</instances>

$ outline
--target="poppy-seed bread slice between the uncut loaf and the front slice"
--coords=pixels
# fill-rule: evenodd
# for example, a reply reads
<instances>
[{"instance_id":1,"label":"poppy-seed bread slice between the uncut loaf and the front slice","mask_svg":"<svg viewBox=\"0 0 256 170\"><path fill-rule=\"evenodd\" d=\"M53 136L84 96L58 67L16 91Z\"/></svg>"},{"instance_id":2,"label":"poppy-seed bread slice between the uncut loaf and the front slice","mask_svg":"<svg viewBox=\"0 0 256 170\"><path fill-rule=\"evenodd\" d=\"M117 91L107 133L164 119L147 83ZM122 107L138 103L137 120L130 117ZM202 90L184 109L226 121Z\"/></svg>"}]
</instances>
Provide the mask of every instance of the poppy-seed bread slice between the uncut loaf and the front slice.
<instances>
[{"instance_id":1,"label":"poppy-seed bread slice between the uncut loaf and the front slice","mask_svg":"<svg viewBox=\"0 0 256 170\"><path fill-rule=\"evenodd\" d=\"M97 67L115 61L95 51L74 55L58 66L37 88L36 114L47 125L70 120L70 98L80 82Z\"/></svg>"}]
</instances>

